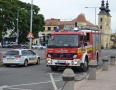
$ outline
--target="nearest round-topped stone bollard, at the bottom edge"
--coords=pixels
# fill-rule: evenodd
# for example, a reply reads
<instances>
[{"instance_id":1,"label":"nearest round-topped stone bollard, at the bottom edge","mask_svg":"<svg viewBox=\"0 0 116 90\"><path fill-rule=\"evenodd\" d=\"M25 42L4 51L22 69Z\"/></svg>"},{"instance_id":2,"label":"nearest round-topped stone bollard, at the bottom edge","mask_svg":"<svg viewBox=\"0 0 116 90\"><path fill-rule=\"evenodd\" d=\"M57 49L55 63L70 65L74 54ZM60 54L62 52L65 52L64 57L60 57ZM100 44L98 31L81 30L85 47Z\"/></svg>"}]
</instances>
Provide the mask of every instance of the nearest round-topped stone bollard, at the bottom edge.
<instances>
[{"instance_id":1,"label":"nearest round-topped stone bollard, at the bottom edge","mask_svg":"<svg viewBox=\"0 0 116 90\"><path fill-rule=\"evenodd\" d=\"M65 81L65 86L62 90L74 90L74 78L75 74L72 69L67 68L62 74L62 79Z\"/></svg>"}]
</instances>

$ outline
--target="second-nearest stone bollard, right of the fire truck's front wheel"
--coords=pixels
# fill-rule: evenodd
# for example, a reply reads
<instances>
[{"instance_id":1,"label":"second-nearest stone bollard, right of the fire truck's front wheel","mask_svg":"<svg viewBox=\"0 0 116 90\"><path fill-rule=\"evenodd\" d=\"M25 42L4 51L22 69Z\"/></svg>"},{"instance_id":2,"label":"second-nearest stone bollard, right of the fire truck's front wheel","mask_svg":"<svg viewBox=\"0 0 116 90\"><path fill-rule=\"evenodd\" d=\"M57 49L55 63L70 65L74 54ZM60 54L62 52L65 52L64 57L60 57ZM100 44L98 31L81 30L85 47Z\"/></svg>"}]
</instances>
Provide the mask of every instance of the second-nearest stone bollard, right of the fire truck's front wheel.
<instances>
[{"instance_id":1,"label":"second-nearest stone bollard, right of the fire truck's front wheel","mask_svg":"<svg viewBox=\"0 0 116 90\"><path fill-rule=\"evenodd\" d=\"M91 60L88 65L89 68L91 69L89 72L89 80L96 80L97 61Z\"/></svg>"}]
</instances>

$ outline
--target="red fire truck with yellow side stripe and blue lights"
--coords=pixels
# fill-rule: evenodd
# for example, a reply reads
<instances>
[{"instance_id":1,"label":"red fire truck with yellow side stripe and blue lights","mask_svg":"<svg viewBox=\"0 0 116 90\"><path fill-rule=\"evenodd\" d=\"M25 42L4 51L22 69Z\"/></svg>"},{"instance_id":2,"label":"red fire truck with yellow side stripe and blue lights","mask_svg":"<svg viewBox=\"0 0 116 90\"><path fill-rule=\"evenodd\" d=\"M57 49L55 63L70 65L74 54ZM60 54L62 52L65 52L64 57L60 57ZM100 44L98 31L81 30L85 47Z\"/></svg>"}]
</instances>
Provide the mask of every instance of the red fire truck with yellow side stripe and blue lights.
<instances>
[{"instance_id":1,"label":"red fire truck with yellow side stripe and blue lights","mask_svg":"<svg viewBox=\"0 0 116 90\"><path fill-rule=\"evenodd\" d=\"M101 55L101 33L97 29L74 27L49 35L46 58L52 71L59 67L87 71L90 60L98 62Z\"/></svg>"}]
</instances>

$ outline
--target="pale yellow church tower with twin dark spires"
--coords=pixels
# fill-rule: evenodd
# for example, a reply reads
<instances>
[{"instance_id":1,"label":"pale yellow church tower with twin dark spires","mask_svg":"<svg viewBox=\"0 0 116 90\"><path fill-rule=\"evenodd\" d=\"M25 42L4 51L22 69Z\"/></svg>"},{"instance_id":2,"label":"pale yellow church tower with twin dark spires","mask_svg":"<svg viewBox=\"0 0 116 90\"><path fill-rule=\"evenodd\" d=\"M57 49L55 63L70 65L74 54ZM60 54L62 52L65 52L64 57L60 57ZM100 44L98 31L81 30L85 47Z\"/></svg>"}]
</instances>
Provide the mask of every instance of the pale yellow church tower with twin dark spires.
<instances>
[{"instance_id":1,"label":"pale yellow church tower with twin dark spires","mask_svg":"<svg viewBox=\"0 0 116 90\"><path fill-rule=\"evenodd\" d=\"M111 15L109 10L108 0L106 6L104 0L101 1L100 12L98 14L98 27L101 31L101 46L102 48L110 48L110 30L111 30Z\"/></svg>"}]
</instances>

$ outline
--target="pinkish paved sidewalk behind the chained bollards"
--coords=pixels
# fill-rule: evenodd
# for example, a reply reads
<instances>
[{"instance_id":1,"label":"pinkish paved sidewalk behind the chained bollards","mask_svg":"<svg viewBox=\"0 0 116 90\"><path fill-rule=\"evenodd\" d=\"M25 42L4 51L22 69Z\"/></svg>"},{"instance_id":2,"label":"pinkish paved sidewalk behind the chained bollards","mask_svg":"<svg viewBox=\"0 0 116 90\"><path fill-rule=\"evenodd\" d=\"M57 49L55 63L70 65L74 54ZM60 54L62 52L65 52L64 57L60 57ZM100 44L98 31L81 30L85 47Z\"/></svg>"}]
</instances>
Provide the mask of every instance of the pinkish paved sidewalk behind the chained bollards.
<instances>
[{"instance_id":1,"label":"pinkish paved sidewalk behind the chained bollards","mask_svg":"<svg viewBox=\"0 0 116 90\"><path fill-rule=\"evenodd\" d=\"M108 71L102 68L96 72L96 80L75 82L74 90L116 90L116 66L109 66Z\"/></svg>"}]
</instances>

